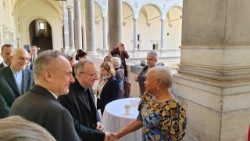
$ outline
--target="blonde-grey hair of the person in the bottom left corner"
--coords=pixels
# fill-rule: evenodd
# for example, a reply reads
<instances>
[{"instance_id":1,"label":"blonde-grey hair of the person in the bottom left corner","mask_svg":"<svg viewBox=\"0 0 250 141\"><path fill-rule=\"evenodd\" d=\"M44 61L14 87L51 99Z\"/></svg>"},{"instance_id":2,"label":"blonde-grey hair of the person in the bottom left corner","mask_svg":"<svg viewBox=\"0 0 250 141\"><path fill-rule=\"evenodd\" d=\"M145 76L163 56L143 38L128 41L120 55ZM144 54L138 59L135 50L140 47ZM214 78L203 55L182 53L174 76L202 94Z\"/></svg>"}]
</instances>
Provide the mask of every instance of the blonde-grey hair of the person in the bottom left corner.
<instances>
[{"instance_id":1,"label":"blonde-grey hair of the person in the bottom left corner","mask_svg":"<svg viewBox=\"0 0 250 141\"><path fill-rule=\"evenodd\" d=\"M3 141L56 141L42 126L19 116L0 119L0 140Z\"/></svg>"}]
</instances>

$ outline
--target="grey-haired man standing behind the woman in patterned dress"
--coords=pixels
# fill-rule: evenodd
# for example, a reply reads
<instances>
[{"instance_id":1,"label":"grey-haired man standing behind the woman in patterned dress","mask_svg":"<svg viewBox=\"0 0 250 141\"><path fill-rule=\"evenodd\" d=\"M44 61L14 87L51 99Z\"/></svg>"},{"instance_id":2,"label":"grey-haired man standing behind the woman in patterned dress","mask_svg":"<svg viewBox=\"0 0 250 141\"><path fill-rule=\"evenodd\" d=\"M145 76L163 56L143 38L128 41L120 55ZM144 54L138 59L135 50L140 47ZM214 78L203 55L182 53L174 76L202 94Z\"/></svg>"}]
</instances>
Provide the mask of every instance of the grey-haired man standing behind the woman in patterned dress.
<instances>
[{"instance_id":1,"label":"grey-haired man standing behind the woman in patterned dress","mask_svg":"<svg viewBox=\"0 0 250 141\"><path fill-rule=\"evenodd\" d=\"M157 65L158 54L151 50L147 54L147 66L145 66L142 71L135 77L135 81L139 83L140 87L140 96L145 92L144 81L146 80L145 74L150 68L153 68Z\"/></svg>"}]
</instances>

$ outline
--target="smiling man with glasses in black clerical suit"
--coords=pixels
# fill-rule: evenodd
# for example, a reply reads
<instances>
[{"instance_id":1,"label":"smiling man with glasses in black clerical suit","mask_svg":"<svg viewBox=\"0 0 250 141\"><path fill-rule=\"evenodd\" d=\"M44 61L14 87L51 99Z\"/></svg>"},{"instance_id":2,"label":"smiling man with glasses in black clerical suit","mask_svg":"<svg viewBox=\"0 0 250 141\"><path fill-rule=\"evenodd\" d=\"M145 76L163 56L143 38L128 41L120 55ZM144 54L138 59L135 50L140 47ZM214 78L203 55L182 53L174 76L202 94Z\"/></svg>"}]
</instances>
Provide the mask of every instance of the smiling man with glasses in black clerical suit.
<instances>
[{"instance_id":1,"label":"smiling man with glasses in black clerical suit","mask_svg":"<svg viewBox=\"0 0 250 141\"><path fill-rule=\"evenodd\" d=\"M105 133L101 132L103 126L92 91L92 86L97 80L96 66L89 60L80 60L75 64L74 71L76 80L70 85L69 94L60 96L59 101L75 119L75 126L82 140L103 141ZM82 130L86 129L90 134L84 136Z\"/></svg>"}]
</instances>

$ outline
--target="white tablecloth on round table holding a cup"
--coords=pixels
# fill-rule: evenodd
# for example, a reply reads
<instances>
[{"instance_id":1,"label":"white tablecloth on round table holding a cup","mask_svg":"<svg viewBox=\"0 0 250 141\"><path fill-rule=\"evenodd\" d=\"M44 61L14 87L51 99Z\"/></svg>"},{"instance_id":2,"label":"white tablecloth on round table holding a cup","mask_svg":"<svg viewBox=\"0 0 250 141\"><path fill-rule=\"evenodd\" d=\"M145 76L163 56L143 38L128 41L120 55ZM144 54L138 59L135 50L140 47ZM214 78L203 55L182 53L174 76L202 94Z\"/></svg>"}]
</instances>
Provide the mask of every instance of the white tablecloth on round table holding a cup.
<instances>
[{"instance_id":1,"label":"white tablecloth on round table holding a cup","mask_svg":"<svg viewBox=\"0 0 250 141\"><path fill-rule=\"evenodd\" d=\"M140 98L124 98L110 102L106 105L103 116L102 123L105 127L105 131L116 132L128 125L128 123L138 116L138 104ZM131 104L131 114L125 114L124 105ZM141 129L133 133L130 133L120 141L141 141L142 134Z\"/></svg>"}]
</instances>

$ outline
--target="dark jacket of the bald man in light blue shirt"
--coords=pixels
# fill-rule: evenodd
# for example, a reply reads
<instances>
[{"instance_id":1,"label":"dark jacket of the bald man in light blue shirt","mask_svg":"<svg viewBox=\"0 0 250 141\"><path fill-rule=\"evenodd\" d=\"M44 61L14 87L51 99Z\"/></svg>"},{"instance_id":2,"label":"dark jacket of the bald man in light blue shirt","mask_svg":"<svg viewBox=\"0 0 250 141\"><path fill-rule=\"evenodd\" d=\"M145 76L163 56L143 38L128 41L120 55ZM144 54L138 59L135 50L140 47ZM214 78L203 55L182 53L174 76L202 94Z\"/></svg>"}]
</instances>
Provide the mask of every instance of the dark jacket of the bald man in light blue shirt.
<instances>
[{"instance_id":1,"label":"dark jacket of the bald man in light blue shirt","mask_svg":"<svg viewBox=\"0 0 250 141\"><path fill-rule=\"evenodd\" d=\"M0 69L0 118L7 117L14 100L32 87L33 75L31 70L23 70L22 77L22 93L20 93L10 66Z\"/></svg>"}]
</instances>

